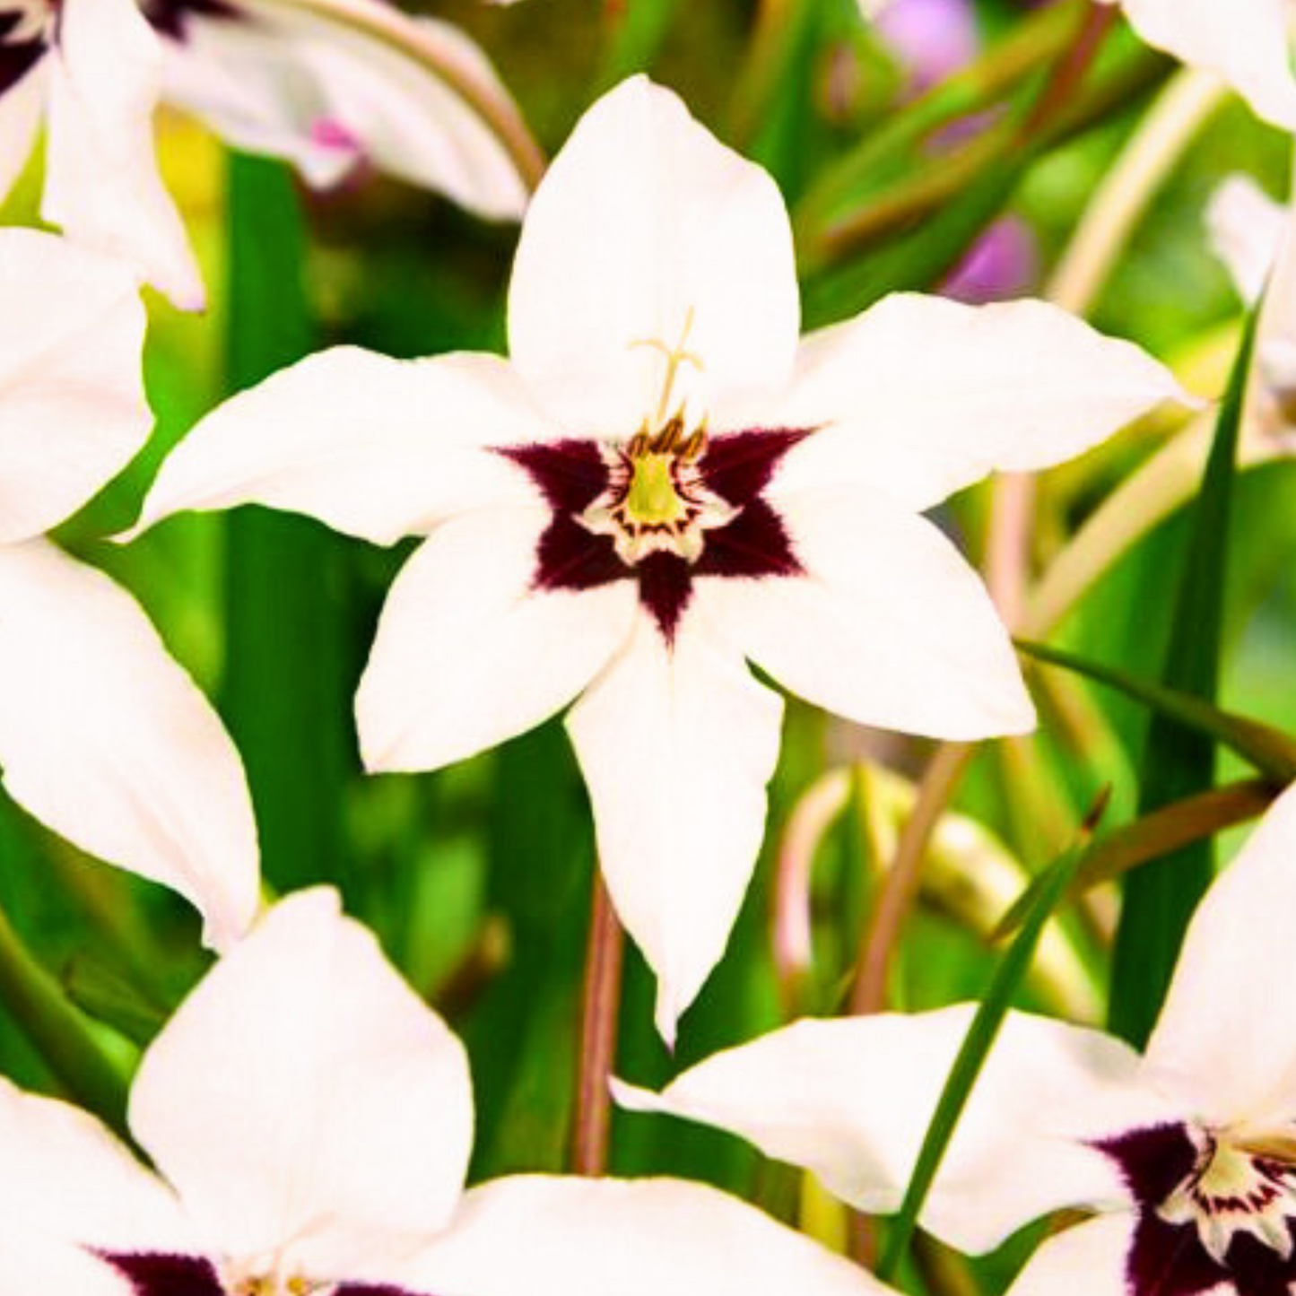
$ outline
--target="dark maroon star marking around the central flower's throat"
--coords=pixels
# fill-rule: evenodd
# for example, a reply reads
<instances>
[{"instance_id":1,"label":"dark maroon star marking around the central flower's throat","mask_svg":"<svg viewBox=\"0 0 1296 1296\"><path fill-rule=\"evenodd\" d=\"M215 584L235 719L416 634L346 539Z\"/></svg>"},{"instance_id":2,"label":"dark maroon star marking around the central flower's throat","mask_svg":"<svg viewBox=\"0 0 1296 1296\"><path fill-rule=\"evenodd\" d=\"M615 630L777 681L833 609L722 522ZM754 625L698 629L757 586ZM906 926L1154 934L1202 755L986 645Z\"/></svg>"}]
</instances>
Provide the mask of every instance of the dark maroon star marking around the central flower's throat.
<instances>
[{"instance_id":1,"label":"dark maroon star marking around the central flower's throat","mask_svg":"<svg viewBox=\"0 0 1296 1296\"><path fill-rule=\"evenodd\" d=\"M762 498L779 460L810 433L805 429L750 429L709 438L697 460L702 485L736 516L705 531L696 562L658 551L635 564L623 561L610 535L594 534L581 515L608 489L610 473L594 441L556 441L500 450L539 487L552 520L535 555L539 590L592 590L613 581L634 581L639 600L670 642L702 575L788 577L801 564L783 520Z\"/></svg>"}]
</instances>

